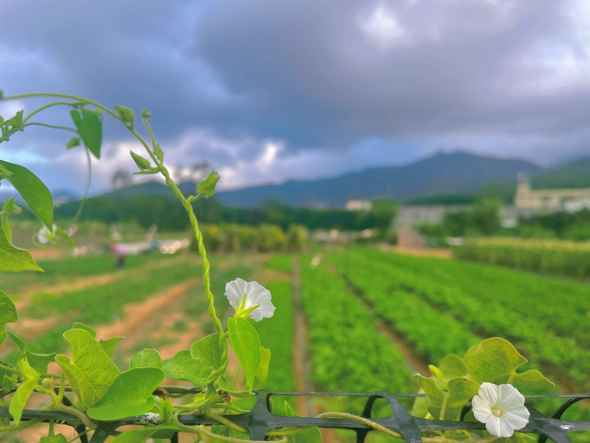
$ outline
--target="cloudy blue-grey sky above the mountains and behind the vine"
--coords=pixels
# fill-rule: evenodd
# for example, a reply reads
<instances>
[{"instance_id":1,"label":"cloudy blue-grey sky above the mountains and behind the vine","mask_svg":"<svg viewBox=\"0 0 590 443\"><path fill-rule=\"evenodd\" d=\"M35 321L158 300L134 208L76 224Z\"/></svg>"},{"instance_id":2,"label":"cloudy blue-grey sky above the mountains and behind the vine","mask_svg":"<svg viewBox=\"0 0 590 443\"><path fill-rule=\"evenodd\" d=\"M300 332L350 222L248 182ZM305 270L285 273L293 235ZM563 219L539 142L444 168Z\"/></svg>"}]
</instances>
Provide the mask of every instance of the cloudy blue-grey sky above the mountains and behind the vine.
<instances>
[{"instance_id":1,"label":"cloudy blue-grey sky above the mountains and behind the vine","mask_svg":"<svg viewBox=\"0 0 590 443\"><path fill-rule=\"evenodd\" d=\"M587 0L0 0L0 15L6 95L148 107L168 164L207 160L224 188L458 147L542 165L590 153ZM69 138L28 128L0 158L81 193ZM141 151L107 120L94 193L134 170L129 149Z\"/></svg>"}]
</instances>

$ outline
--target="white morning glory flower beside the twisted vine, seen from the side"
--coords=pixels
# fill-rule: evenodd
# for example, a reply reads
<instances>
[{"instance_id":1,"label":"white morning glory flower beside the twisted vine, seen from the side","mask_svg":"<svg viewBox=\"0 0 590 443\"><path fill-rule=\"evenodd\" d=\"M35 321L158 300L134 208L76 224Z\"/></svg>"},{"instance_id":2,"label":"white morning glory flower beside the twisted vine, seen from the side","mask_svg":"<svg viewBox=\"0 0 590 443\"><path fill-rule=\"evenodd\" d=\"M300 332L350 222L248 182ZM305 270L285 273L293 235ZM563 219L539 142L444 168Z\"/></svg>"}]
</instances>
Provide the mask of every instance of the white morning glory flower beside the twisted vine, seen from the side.
<instances>
[{"instance_id":1,"label":"white morning glory flower beside the twisted vine, seen from the side","mask_svg":"<svg viewBox=\"0 0 590 443\"><path fill-rule=\"evenodd\" d=\"M237 317L250 317L260 321L264 317L273 317L276 309L270 301L270 291L258 282L237 278L225 285L225 297L235 308Z\"/></svg>"}]
</instances>

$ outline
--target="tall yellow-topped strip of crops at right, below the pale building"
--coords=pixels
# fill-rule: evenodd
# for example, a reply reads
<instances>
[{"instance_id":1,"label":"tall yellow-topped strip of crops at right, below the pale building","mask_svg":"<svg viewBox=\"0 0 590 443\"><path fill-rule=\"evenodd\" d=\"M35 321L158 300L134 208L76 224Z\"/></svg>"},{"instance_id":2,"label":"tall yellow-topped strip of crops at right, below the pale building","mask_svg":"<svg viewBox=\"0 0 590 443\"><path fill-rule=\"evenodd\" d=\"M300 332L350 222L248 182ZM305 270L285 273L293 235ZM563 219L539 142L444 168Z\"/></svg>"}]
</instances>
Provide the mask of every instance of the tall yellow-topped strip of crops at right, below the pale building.
<instances>
[{"instance_id":1,"label":"tall yellow-topped strip of crops at right, below the pale building","mask_svg":"<svg viewBox=\"0 0 590 443\"><path fill-rule=\"evenodd\" d=\"M501 237L472 239L455 247L453 255L462 260L491 263L526 271L590 277L590 243L588 242Z\"/></svg>"}]
</instances>

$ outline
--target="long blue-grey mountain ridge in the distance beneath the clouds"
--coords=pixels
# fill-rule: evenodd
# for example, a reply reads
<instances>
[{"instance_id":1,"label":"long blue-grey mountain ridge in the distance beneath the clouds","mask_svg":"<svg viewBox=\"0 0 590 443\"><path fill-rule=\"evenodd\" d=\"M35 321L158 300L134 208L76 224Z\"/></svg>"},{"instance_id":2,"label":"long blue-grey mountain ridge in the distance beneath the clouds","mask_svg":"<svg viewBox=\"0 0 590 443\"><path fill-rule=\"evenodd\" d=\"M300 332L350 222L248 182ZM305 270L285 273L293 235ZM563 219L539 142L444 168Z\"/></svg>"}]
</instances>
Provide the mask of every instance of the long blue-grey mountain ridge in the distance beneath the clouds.
<instances>
[{"instance_id":1,"label":"long blue-grey mountain ridge in the distance beneath the clouds","mask_svg":"<svg viewBox=\"0 0 590 443\"><path fill-rule=\"evenodd\" d=\"M401 167L370 168L321 180L290 180L216 194L229 205L253 207L268 198L292 206L343 206L350 198L408 197L455 193L482 184L514 181L520 171L535 174L543 168L522 160L481 157L466 152L436 154Z\"/></svg>"}]
</instances>

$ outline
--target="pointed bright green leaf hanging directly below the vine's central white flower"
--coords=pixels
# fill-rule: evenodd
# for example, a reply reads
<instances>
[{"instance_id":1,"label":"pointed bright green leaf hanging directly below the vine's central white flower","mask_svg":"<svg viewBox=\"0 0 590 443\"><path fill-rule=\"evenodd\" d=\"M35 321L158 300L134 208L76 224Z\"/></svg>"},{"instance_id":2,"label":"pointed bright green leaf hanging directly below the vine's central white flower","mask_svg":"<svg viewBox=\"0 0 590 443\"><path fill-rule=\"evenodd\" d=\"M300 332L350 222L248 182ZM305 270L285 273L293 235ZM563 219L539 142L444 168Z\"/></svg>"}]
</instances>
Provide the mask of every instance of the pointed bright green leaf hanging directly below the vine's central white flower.
<instances>
[{"instance_id":1,"label":"pointed bright green leaf hanging directly below the vine's central white flower","mask_svg":"<svg viewBox=\"0 0 590 443\"><path fill-rule=\"evenodd\" d=\"M229 318L227 328L230 332L231 347L244 368L244 374L250 390L254 386L254 377L262 360L260 337L250 321L245 318Z\"/></svg>"}]
</instances>

